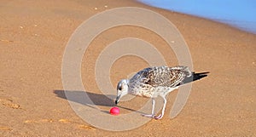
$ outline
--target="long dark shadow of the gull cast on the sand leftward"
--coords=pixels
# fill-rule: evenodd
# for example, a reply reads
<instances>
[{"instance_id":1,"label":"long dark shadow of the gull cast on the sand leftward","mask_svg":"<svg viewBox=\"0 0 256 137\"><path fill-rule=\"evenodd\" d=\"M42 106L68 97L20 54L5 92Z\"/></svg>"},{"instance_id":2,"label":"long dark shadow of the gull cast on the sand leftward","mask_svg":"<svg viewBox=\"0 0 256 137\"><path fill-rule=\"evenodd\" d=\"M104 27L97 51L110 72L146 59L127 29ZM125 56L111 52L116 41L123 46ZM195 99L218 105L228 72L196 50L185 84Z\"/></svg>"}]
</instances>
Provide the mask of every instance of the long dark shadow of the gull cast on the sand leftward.
<instances>
[{"instance_id":1,"label":"long dark shadow of the gull cast on the sand leftward","mask_svg":"<svg viewBox=\"0 0 256 137\"><path fill-rule=\"evenodd\" d=\"M98 109L96 106L116 106L114 99L116 96L113 94L96 94L84 91L72 91L72 90L54 90L54 94L64 100L73 101L84 106ZM130 108L119 106L128 111L136 111ZM108 113L108 111L102 111ZM142 111L137 111L143 113ZM143 113L144 114L144 113Z\"/></svg>"}]
</instances>

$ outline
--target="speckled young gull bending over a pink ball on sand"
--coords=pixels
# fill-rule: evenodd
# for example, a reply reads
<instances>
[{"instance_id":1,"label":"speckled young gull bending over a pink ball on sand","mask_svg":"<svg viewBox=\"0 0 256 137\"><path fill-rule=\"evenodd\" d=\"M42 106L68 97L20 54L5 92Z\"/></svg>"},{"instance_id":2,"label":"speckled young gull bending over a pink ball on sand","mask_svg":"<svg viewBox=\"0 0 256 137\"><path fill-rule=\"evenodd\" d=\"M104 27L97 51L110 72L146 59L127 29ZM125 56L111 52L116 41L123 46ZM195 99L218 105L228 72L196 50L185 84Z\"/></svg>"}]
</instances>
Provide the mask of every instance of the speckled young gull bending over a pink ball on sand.
<instances>
[{"instance_id":1,"label":"speckled young gull bending over a pink ball on sand","mask_svg":"<svg viewBox=\"0 0 256 137\"><path fill-rule=\"evenodd\" d=\"M151 114L143 116L161 119L166 109L166 95L184 83L190 83L202 77L207 77L207 73L209 72L195 73L189 71L188 66L153 66L145 68L142 71L138 71L131 79L122 79L119 81L115 104L117 105L125 94L151 98ZM155 98L158 96L163 98L164 106L162 107L161 114L154 116Z\"/></svg>"}]
</instances>

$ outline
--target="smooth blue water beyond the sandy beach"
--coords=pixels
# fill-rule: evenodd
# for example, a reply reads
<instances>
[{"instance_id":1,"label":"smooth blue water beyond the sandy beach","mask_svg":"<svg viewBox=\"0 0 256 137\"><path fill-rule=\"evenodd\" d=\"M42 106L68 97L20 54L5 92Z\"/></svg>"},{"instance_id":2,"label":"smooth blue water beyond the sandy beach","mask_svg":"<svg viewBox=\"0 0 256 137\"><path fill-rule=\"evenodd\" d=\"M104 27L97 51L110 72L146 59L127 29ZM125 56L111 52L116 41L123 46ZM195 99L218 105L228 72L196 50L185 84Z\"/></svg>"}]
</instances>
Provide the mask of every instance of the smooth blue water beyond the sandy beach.
<instances>
[{"instance_id":1,"label":"smooth blue water beyond the sandy beach","mask_svg":"<svg viewBox=\"0 0 256 137\"><path fill-rule=\"evenodd\" d=\"M139 2L216 20L256 34L256 0L139 0Z\"/></svg>"}]
</instances>

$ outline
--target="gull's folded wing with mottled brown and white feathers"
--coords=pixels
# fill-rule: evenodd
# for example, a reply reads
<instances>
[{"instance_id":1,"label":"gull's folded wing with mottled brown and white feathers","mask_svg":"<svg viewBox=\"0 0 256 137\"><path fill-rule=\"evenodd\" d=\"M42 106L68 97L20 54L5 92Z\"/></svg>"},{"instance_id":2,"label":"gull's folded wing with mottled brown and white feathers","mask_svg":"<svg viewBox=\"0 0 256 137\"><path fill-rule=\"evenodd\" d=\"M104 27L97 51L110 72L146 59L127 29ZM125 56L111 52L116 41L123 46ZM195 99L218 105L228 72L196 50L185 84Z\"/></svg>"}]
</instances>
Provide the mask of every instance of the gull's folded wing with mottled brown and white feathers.
<instances>
[{"instance_id":1,"label":"gull's folded wing with mottled brown and white feathers","mask_svg":"<svg viewBox=\"0 0 256 137\"><path fill-rule=\"evenodd\" d=\"M185 77L191 76L191 71L189 71L186 66L160 66L148 67L143 71L139 71L137 74L137 77L140 77L144 84L148 84L153 87L176 87L183 83Z\"/></svg>"}]
</instances>

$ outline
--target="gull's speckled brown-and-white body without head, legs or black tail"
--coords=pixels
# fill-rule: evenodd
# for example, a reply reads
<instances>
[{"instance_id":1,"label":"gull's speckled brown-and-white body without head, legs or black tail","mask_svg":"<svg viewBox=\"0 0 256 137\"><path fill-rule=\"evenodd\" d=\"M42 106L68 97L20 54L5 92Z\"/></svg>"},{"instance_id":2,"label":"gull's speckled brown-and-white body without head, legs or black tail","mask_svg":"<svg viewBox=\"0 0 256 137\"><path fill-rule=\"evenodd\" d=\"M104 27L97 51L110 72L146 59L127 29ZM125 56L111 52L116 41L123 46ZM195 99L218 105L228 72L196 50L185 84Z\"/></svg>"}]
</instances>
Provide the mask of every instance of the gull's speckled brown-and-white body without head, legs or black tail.
<instances>
[{"instance_id":1,"label":"gull's speckled brown-and-white body without head, legs or black tail","mask_svg":"<svg viewBox=\"0 0 256 137\"><path fill-rule=\"evenodd\" d=\"M128 80L128 92L144 97L155 97L160 92L171 92L185 77L190 76L191 71L186 66L148 67Z\"/></svg>"}]
</instances>

